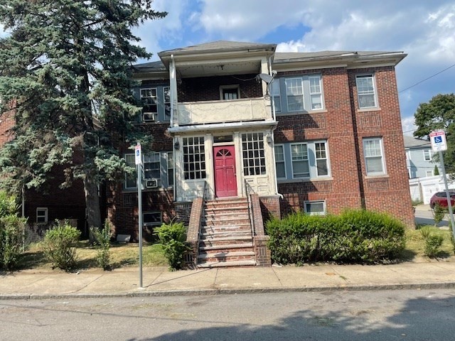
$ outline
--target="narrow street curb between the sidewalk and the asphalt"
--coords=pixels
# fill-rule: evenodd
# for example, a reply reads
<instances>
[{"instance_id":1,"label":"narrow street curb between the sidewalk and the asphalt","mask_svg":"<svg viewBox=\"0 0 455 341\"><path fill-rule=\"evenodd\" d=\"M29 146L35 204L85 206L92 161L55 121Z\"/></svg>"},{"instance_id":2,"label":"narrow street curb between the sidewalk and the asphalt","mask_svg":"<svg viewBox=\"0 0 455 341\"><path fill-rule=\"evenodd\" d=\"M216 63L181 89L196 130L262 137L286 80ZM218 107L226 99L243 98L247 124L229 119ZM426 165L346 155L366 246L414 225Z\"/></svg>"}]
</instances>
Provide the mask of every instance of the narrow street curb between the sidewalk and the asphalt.
<instances>
[{"instance_id":1,"label":"narrow street curb between the sidewalk and the asphalt","mask_svg":"<svg viewBox=\"0 0 455 341\"><path fill-rule=\"evenodd\" d=\"M0 301L6 300L42 300L64 298L127 298L127 297L157 297L157 296L215 296L255 293L312 293L328 291L375 291L375 290L422 290L422 289L451 289L455 282L446 283L412 283L385 284L373 286L315 286L299 288L238 288L238 289L195 289L171 291L138 291L128 293L60 293L60 294L0 294Z\"/></svg>"}]
</instances>

